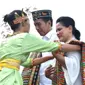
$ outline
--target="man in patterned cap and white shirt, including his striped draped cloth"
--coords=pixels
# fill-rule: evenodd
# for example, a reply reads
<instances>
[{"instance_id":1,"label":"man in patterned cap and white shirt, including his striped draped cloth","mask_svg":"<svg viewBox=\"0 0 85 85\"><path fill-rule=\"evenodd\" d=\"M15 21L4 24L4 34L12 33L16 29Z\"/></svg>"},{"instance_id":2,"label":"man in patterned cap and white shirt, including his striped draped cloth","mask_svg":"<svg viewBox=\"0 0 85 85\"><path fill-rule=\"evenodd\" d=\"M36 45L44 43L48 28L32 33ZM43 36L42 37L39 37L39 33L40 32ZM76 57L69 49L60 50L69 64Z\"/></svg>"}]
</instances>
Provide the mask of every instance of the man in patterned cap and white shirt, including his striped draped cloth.
<instances>
[{"instance_id":1,"label":"man in patterned cap and white shirt, including his striped draped cloth","mask_svg":"<svg viewBox=\"0 0 85 85\"><path fill-rule=\"evenodd\" d=\"M56 32L52 30L53 20L52 20L51 10L33 11L32 16L33 16L35 28L38 31L38 33L42 36L43 40L46 40L46 41L57 40ZM74 47L74 48L77 48L77 47ZM73 49L72 46L71 46L71 49ZM42 54L41 57L53 56L51 52L44 52L41 54ZM39 57L39 56L36 56L36 57ZM33 84L52 85L52 81L45 77L45 69L49 65L54 66L55 63L56 63L56 60L52 59L32 69L24 68L22 73L24 85L30 85L30 84L31 85Z\"/></svg>"}]
</instances>

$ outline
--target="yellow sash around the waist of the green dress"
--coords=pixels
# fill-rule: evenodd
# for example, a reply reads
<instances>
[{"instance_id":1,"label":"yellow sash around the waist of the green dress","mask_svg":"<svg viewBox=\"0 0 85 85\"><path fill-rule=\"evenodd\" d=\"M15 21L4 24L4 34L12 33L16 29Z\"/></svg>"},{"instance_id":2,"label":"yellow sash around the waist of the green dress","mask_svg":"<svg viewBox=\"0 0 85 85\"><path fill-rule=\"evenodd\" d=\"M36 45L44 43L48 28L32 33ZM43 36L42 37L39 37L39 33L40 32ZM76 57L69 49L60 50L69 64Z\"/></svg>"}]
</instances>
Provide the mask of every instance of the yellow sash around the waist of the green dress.
<instances>
[{"instance_id":1,"label":"yellow sash around the waist of the green dress","mask_svg":"<svg viewBox=\"0 0 85 85\"><path fill-rule=\"evenodd\" d=\"M2 70L3 67L19 70L20 61L15 59L0 60L0 70Z\"/></svg>"}]
</instances>

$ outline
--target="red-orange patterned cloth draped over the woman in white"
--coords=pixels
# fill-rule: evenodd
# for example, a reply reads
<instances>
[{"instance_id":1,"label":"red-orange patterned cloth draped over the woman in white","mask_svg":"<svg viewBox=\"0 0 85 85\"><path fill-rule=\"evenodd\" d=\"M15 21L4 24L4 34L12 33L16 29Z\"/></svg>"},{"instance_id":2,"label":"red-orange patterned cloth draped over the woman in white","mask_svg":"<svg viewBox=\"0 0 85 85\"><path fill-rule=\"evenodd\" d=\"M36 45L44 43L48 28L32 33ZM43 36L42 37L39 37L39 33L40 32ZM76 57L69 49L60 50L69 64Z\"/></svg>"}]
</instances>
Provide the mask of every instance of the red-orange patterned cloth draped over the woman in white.
<instances>
[{"instance_id":1,"label":"red-orange patterned cloth draped over the woman in white","mask_svg":"<svg viewBox=\"0 0 85 85\"><path fill-rule=\"evenodd\" d=\"M81 46L81 76L82 76L82 85L85 85L85 43L80 41L71 41L70 44L80 45ZM65 85L64 72L62 66L57 62L56 63L56 83L53 82L53 85Z\"/></svg>"}]
</instances>

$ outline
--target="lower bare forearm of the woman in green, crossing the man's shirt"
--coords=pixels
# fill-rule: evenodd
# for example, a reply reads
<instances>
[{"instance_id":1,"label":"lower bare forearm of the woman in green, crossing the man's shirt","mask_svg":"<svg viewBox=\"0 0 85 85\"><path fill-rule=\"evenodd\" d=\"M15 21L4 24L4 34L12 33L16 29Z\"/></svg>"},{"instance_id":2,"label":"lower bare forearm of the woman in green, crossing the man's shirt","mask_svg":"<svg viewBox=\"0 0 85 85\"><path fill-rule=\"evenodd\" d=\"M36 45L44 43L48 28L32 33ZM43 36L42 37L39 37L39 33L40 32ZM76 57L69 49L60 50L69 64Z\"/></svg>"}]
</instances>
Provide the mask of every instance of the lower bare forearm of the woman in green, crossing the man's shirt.
<instances>
[{"instance_id":1,"label":"lower bare forearm of the woman in green, crossing the man's shirt","mask_svg":"<svg viewBox=\"0 0 85 85\"><path fill-rule=\"evenodd\" d=\"M33 66L36 66L36 65L38 65L38 64L41 64L41 63L43 63L43 62L45 62L45 61L48 61L48 60L51 60L51 59L53 59L52 56L35 58L35 59L33 59Z\"/></svg>"}]
</instances>

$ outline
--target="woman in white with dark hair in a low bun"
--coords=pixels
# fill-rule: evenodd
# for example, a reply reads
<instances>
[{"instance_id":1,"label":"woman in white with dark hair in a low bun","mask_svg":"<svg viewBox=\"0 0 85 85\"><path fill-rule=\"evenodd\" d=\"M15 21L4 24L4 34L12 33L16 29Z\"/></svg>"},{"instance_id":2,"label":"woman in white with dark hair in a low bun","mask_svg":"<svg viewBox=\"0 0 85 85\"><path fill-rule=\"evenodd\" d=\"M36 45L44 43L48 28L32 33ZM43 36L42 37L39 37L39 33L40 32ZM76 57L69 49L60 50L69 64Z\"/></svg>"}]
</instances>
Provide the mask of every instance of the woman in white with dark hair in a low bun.
<instances>
[{"instance_id":1,"label":"woman in white with dark hair in a low bun","mask_svg":"<svg viewBox=\"0 0 85 85\"><path fill-rule=\"evenodd\" d=\"M59 17L56 20L56 32L59 40L64 43L71 43L72 40L80 40L80 32L75 27L75 21L68 16ZM53 53L56 60L62 66L64 72L65 83L61 85L82 85L80 61L80 51L65 52L64 55L61 53ZM58 68L56 68L58 71ZM52 79L59 85L58 78L54 67L50 66L46 69L46 77ZM60 73L60 72L59 72ZM58 81L58 82L57 82Z\"/></svg>"}]
</instances>

